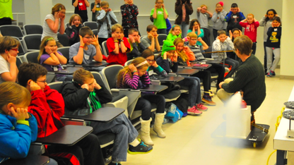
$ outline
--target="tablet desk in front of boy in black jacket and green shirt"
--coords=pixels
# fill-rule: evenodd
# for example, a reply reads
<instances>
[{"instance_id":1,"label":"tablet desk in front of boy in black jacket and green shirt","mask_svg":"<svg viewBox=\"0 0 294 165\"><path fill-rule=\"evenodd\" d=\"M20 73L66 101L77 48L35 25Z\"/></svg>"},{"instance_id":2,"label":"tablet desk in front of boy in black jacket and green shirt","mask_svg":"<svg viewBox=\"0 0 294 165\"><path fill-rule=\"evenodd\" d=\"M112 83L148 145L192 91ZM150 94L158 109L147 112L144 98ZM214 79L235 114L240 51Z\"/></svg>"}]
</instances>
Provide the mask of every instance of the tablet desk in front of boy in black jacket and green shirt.
<instances>
[{"instance_id":1,"label":"tablet desk in front of boy in black jacket and green shirt","mask_svg":"<svg viewBox=\"0 0 294 165\"><path fill-rule=\"evenodd\" d=\"M78 116L78 115L64 115L63 118L77 118L84 121L100 121L100 122L108 122L112 121L114 118L124 113L124 109L121 108L113 108L113 107L102 107L93 111L91 114L86 116Z\"/></svg>"}]
</instances>

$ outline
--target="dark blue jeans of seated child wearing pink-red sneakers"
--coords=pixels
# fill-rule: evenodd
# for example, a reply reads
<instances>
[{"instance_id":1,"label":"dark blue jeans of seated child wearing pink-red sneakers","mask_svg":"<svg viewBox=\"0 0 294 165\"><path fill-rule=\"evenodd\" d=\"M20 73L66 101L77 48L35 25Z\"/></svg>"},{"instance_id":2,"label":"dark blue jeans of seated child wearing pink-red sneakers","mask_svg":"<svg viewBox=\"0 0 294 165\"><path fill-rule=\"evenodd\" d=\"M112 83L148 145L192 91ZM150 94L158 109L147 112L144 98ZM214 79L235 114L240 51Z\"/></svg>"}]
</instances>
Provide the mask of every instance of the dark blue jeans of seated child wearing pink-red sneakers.
<instances>
[{"instance_id":1,"label":"dark blue jeans of seated child wearing pink-red sneakers","mask_svg":"<svg viewBox=\"0 0 294 165\"><path fill-rule=\"evenodd\" d=\"M200 79L196 77L183 76L184 80L177 82L180 86L189 87L189 106L201 103Z\"/></svg>"}]
</instances>

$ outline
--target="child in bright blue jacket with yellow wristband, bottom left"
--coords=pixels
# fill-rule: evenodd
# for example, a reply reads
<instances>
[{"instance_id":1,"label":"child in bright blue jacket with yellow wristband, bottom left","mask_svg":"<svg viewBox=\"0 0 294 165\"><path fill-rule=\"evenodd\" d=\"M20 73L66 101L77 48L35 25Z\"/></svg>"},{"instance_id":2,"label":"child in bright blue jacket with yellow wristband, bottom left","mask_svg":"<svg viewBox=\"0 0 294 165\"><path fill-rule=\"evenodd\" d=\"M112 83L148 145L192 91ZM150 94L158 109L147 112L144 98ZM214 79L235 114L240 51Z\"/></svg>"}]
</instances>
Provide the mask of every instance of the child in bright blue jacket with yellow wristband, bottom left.
<instances>
[{"instance_id":1,"label":"child in bright blue jacket with yellow wristband, bottom left","mask_svg":"<svg viewBox=\"0 0 294 165\"><path fill-rule=\"evenodd\" d=\"M0 98L0 162L25 158L37 139L36 118L28 113L30 92L15 82L3 82Z\"/></svg>"}]
</instances>

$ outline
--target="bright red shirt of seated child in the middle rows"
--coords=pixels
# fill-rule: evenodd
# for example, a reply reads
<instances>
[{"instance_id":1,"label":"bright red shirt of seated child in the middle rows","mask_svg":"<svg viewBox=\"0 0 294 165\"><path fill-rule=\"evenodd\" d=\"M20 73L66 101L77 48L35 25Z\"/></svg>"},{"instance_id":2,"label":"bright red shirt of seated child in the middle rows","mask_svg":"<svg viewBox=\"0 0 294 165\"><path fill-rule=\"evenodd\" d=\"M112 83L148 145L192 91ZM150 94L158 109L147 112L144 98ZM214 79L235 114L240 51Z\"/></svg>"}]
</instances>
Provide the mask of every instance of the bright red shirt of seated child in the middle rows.
<instances>
[{"instance_id":1,"label":"bright red shirt of seated child in the middle rows","mask_svg":"<svg viewBox=\"0 0 294 165\"><path fill-rule=\"evenodd\" d=\"M131 49L131 46L129 45L129 41L126 37L123 38L124 40L124 46L127 47L127 52ZM127 52L122 53L122 49L120 49L120 43L119 43L119 54L114 54L113 50L115 49L114 46L114 39L112 37L107 39L106 42L107 49L110 52L109 56L107 57L107 63L112 64L120 64L124 66L124 63L127 62Z\"/></svg>"}]
</instances>

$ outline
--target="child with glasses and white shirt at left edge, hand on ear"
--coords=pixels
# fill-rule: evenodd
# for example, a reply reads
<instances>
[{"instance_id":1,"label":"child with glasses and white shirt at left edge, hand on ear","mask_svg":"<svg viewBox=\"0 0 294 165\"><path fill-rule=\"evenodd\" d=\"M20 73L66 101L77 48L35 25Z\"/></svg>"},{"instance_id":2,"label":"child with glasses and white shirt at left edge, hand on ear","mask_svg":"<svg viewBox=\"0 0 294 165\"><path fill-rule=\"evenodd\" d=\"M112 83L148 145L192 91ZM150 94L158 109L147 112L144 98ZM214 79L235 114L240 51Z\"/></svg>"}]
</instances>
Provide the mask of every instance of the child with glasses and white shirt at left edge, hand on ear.
<instances>
[{"instance_id":1,"label":"child with glasses and white shirt at left edge, hand on ear","mask_svg":"<svg viewBox=\"0 0 294 165\"><path fill-rule=\"evenodd\" d=\"M0 84L5 81L16 82L18 67L16 56L20 43L13 37L0 37Z\"/></svg>"}]
</instances>

